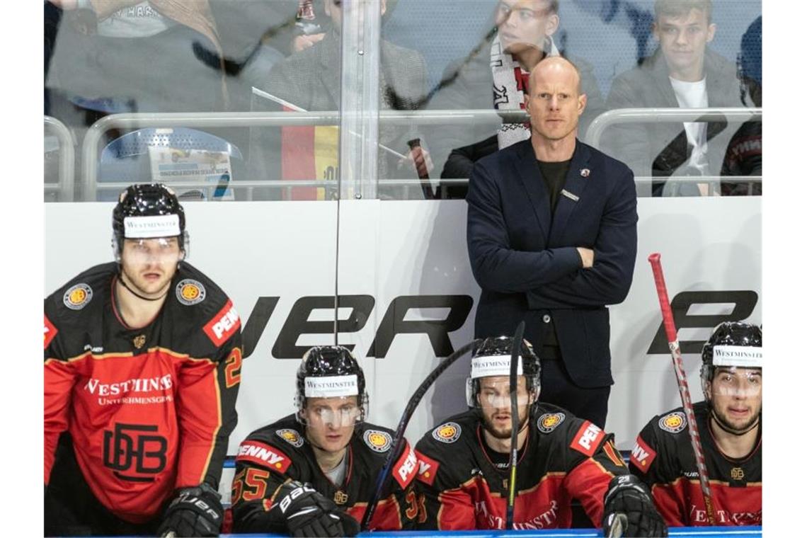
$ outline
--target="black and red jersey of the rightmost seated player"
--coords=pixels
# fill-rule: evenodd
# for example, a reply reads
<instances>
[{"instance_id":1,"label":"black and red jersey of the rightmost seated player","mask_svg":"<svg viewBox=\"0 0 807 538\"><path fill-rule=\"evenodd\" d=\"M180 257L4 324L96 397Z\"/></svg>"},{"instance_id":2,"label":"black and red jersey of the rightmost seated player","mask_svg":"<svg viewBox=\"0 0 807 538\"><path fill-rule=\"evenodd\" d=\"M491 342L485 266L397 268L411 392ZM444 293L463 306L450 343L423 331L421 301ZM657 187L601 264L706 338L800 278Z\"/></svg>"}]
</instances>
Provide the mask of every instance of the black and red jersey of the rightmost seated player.
<instances>
[{"instance_id":1,"label":"black and red jersey of the rightmost seated player","mask_svg":"<svg viewBox=\"0 0 807 538\"><path fill-rule=\"evenodd\" d=\"M704 451L716 525L762 525L762 425L755 448L734 459L721 453L709 424L709 406L692 406ZM667 525L709 525L684 408L657 415L639 432L631 472L653 492Z\"/></svg>"}]
</instances>

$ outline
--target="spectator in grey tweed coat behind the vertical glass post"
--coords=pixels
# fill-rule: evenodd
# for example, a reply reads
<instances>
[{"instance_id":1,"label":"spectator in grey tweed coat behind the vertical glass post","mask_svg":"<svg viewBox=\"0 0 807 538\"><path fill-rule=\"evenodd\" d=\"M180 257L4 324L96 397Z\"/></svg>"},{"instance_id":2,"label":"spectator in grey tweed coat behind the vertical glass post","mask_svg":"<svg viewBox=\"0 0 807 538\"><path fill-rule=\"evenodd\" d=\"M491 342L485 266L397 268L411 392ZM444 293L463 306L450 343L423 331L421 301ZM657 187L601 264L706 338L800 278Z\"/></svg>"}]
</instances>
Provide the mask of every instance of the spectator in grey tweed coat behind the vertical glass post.
<instances>
[{"instance_id":1,"label":"spectator in grey tweed coat behind the vertical glass post","mask_svg":"<svg viewBox=\"0 0 807 538\"><path fill-rule=\"evenodd\" d=\"M387 11L387 0L381 0L380 3L383 15ZM355 8L358 4L341 0L324 0L325 14L331 19L330 28L324 37L274 65L258 88L305 111L338 111L341 102L342 10L350 9L351 6ZM420 52L381 40L380 68L378 75L381 91L380 108L407 111L414 110L420 105L426 85L425 60ZM279 110L279 105L271 102L271 99L266 99L266 105L277 106L276 110ZM254 131L256 136L250 146L249 165L253 178L291 179L285 169L286 163L289 162L288 153L285 160L282 153L295 148L288 148L288 144L282 144L281 139L285 135L282 135L281 131L282 129L272 128ZM314 144L312 148L320 161L325 161L320 157L328 154L334 156L332 162L337 164L335 149L332 151L328 147L338 143L337 135L335 131L332 135L320 135L324 132L324 130L316 131L316 135L313 135L315 140L311 141L311 144ZM408 148L407 141L415 137L416 132L412 127L383 123L379 126L378 140L380 144L390 149L380 149L378 177L416 178L418 170L421 173L428 173L433 168L428 152L420 152L420 148L417 151ZM325 139L327 141L323 142ZM299 144L297 145L296 151L299 151ZM413 154L416 154L416 159ZM314 159L311 152L300 157ZM316 163L312 164L307 179L331 177L332 171L317 169L316 166ZM295 165L295 168L299 169L299 166ZM263 194L260 196L262 198Z\"/></svg>"}]
</instances>

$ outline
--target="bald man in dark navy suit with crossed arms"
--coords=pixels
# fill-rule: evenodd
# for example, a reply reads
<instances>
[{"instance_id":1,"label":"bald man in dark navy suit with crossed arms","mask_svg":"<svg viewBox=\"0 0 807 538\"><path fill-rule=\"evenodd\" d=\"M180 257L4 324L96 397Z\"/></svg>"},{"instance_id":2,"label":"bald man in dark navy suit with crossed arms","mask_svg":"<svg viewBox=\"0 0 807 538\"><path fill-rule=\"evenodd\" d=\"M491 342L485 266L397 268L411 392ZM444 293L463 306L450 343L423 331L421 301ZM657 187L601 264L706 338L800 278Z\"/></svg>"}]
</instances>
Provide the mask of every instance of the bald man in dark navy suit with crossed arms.
<instances>
[{"instance_id":1,"label":"bald man in dark navy suit with crossed arms","mask_svg":"<svg viewBox=\"0 0 807 538\"><path fill-rule=\"evenodd\" d=\"M529 77L529 139L477 161L467 242L482 288L475 337L525 339L543 363L544 402L604 427L611 393L607 305L633 280L636 186L630 169L576 139L586 107L578 69L559 56Z\"/></svg>"}]
</instances>

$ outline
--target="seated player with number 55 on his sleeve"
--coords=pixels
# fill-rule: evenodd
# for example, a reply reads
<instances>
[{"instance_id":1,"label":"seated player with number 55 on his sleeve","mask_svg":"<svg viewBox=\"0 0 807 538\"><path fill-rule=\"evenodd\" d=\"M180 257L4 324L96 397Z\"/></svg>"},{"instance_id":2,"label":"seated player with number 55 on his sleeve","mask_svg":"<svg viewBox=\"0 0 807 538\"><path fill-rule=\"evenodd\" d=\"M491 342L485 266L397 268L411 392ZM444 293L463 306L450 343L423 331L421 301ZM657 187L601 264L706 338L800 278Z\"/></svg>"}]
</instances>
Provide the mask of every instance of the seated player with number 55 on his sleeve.
<instances>
[{"instance_id":1,"label":"seated player with number 55 on his sleeve","mask_svg":"<svg viewBox=\"0 0 807 538\"><path fill-rule=\"evenodd\" d=\"M355 536L392 431L366 423L364 373L347 348L309 349L297 371L297 412L240 444L232 480L235 532ZM371 530L407 530L417 515L415 451L405 444L370 521Z\"/></svg>"}]
</instances>

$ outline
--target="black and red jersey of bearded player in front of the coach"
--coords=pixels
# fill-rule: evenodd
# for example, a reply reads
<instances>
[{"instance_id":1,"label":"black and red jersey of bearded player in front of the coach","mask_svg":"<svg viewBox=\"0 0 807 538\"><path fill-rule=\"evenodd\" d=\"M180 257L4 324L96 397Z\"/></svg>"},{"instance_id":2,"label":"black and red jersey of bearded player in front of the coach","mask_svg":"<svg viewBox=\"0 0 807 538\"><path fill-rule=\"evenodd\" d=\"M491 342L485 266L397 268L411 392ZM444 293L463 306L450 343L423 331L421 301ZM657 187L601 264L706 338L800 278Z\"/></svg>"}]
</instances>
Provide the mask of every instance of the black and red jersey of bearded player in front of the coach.
<instances>
[{"instance_id":1,"label":"black and red jersey of bearded player in front of the coach","mask_svg":"<svg viewBox=\"0 0 807 538\"><path fill-rule=\"evenodd\" d=\"M504 529L509 465L485 448L479 412L454 415L416 445L420 528ZM608 482L628 469L613 435L568 411L541 403L518 451L513 528L569 528L571 500L599 523Z\"/></svg>"}]
</instances>

